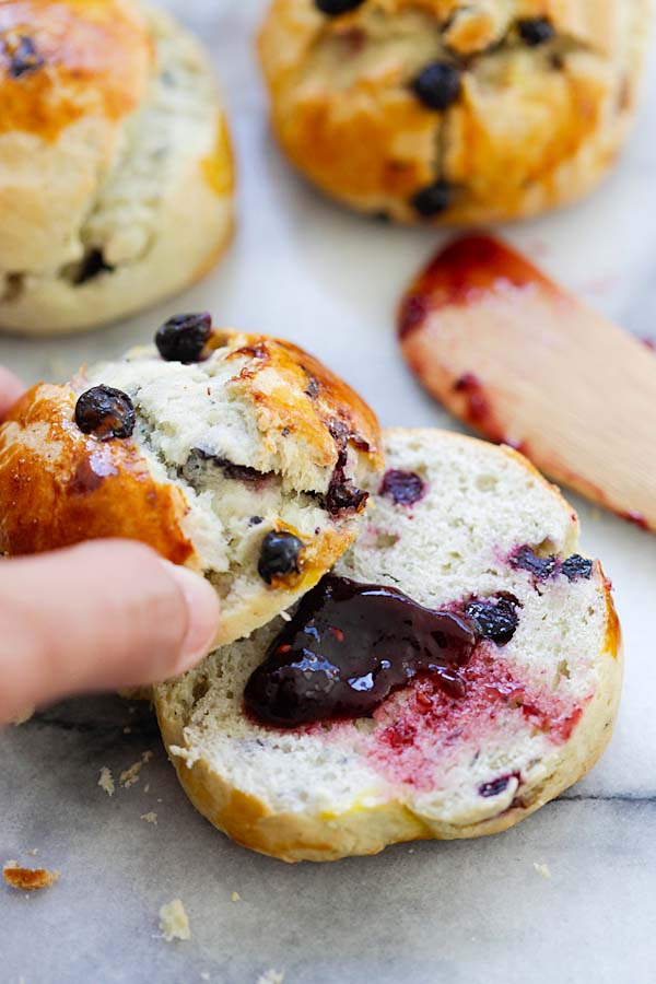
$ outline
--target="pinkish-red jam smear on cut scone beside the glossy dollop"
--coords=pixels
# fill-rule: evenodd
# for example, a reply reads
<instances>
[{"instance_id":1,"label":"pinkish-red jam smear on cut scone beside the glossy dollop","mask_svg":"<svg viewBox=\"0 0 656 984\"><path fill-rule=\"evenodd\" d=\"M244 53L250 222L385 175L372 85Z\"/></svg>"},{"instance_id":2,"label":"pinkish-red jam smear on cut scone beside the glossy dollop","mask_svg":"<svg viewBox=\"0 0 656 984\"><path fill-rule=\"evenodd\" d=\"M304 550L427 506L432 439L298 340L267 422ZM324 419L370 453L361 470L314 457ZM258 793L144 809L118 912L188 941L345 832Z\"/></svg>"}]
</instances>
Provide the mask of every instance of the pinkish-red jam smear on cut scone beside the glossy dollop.
<instances>
[{"instance_id":1,"label":"pinkish-red jam smear on cut scone beside the glossy dollop","mask_svg":"<svg viewBox=\"0 0 656 984\"><path fill-rule=\"evenodd\" d=\"M467 683L462 699L448 698L425 676L376 711L378 728L364 740L364 752L387 781L427 792L458 751L470 746L473 754L501 729L512 740L529 726L562 745L584 711L584 704L557 695L547 686L523 684L487 646L461 675Z\"/></svg>"}]
</instances>

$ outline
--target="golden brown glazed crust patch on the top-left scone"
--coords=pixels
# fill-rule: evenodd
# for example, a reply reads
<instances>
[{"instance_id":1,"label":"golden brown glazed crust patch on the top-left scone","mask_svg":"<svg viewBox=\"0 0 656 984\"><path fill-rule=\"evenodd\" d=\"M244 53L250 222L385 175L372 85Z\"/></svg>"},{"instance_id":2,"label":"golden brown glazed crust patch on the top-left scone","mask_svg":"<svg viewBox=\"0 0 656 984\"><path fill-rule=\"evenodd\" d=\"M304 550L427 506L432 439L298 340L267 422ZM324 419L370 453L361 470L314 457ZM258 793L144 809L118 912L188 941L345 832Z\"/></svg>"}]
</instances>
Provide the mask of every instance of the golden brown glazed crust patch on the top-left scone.
<instances>
[{"instance_id":1,"label":"golden brown glazed crust patch on the top-left scone","mask_svg":"<svg viewBox=\"0 0 656 984\"><path fill-rule=\"evenodd\" d=\"M152 57L145 24L127 0L4 0L0 133L54 140L81 116L127 115L144 93Z\"/></svg>"}]
</instances>

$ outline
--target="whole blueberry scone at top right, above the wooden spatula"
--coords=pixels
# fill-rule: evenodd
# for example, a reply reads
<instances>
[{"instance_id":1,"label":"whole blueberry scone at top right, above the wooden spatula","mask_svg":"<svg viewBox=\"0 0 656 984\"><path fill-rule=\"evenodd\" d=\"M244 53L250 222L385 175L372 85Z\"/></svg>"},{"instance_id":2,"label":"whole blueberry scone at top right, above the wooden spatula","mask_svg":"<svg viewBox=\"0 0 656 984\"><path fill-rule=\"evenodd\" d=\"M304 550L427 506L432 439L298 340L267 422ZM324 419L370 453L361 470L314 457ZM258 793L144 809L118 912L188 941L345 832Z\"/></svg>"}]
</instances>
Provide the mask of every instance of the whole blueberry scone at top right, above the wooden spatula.
<instances>
[{"instance_id":1,"label":"whole blueberry scone at top right, above the wooden spatula","mask_svg":"<svg viewBox=\"0 0 656 984\"><path fill-rule=\"evenodd\" d=\"M352 208L532 215L590 191L636 102L648 0L273 0L273 129Z\"/></svg>"}]
</instances>

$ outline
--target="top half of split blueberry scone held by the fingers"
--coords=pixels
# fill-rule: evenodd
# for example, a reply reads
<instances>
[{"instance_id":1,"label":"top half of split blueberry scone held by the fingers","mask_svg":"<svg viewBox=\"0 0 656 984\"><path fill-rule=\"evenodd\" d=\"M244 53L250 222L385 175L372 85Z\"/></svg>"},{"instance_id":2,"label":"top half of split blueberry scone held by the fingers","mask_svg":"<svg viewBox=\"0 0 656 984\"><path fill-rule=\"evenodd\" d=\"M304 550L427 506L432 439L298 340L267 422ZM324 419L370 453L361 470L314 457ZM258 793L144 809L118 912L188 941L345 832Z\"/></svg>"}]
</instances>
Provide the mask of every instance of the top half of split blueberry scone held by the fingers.
<instances>
[{"instance_id":1,"label":"top half of split blueberry scone held by the fingers","mask_svg":"<svg viewBox=\"0 0 656 984\"><path fill-rule=\"evenodd\" d=\"M289 342L172 318L157 348L32 389L0 427L0 553L142 540L204 573L219 643L311 588L383 468L377 421Z\"/></svg>"}]
</instances>

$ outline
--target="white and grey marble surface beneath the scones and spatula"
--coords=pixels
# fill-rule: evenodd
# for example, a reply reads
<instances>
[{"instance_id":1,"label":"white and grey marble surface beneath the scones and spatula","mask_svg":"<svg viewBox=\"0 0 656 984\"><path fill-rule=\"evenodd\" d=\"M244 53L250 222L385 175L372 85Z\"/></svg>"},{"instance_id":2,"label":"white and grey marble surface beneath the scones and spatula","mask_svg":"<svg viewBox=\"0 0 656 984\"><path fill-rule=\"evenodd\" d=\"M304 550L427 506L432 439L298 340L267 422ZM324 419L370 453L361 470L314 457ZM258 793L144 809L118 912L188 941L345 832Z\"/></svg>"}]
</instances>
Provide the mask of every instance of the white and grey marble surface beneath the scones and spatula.
<instances>
[{"instance_id":1,"label":"white and grey marble surface beneath the scones and spatula","mask_svg":"<svg viewBox=\"0 0 656 984\"><path fill-rule=\"evenodd\" d=\"M173 306L305 344L385 424L453 426L406 372L393 325L402 286L441 237L350 215L290 173L251 56L259 0L167 5L214 51L241 171L232 251ZM655 129L656 65L616 175L583 204L504 232L628 329L656 337ZM85 337L2 338L0 361L28 380L65 377L150 339L169 308ZM274 969L285 984L652 982L656 541L577 506L584 546L612 576L628 657L614 738L583 783L496 837L288 867L235 847L191 809L145 705L68 702L0 737L0 859L62 872L37 897L0 888L0 981L256 984ZM109 798L96 785L102 766L118 777L149 750L130 788ZM140 819L151 811L156 825ZM167 944L157 911L176 897L192 938Z\"/></svg>"}]
</instances>

